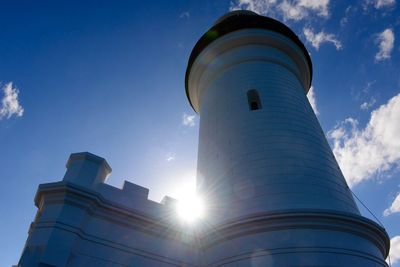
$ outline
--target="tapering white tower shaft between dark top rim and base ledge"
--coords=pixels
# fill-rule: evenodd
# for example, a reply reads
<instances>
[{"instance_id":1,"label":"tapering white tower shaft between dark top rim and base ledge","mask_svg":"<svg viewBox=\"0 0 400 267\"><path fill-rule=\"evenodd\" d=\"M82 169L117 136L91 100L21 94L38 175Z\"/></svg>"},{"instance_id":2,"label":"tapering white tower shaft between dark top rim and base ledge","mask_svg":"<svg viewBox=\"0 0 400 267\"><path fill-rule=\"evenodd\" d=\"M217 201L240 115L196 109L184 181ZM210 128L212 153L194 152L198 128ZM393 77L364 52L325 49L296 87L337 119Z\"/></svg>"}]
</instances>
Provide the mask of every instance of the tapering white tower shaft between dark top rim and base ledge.
<instances>
[{"instance_id":1,"label":"tapering white tower shaft between dark top rim and base ledge","mask_svg":"<svg viewBox=\"0 0 400 267\"><path fill-rule=\"evenodd\" d=\"M229 33L197 57L189 96L201 118L198 190L211 220L292 209L359 214L307 100L309 82L303 52L273 31ZM249 90L260 109L250 110Z\"/></svg>"}]
</instances>

